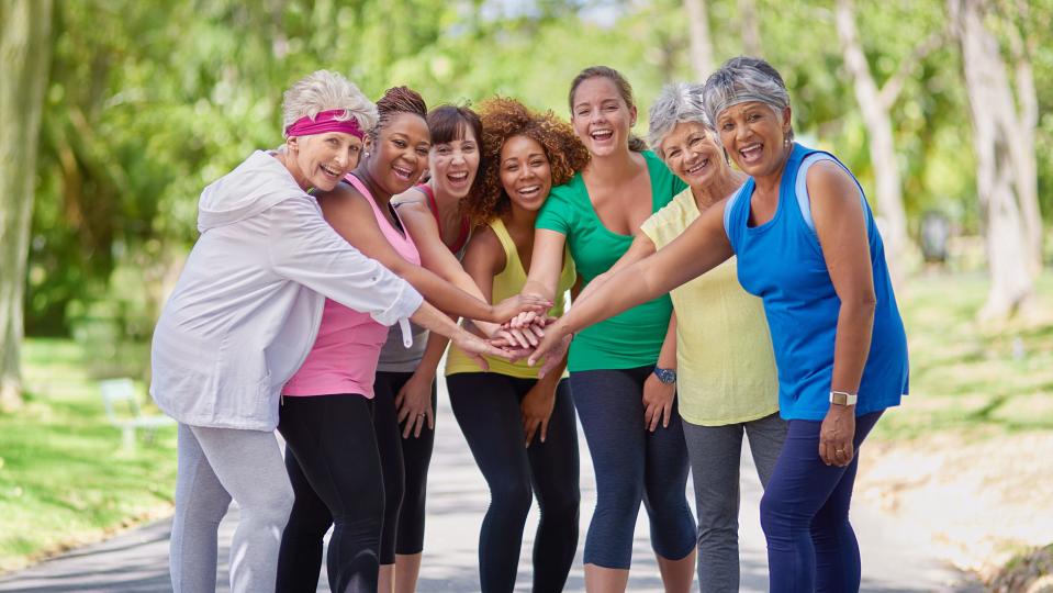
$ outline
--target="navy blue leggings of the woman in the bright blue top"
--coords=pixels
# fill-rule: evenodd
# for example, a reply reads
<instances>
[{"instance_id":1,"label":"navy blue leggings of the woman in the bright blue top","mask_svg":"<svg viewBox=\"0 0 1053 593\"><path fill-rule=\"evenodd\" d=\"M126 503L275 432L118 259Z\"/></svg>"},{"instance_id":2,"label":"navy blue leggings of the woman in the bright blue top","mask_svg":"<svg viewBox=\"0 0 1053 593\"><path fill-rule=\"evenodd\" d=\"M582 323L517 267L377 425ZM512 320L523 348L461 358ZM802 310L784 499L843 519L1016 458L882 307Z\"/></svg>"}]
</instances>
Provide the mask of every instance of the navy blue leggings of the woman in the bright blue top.
<instances>
[{"instance_id":1,"label":"navy blue leggings of the woman in the bright blue top","mask_svg":"<svg viewBox=\"0 0 1053 593\"><path fill-rule=\"evenodd\" d=\"M851 593L860 588L860 548L849 523L860 445L882 412L855 418L847 467L819 457L821 422L789 421L786 444L761 499L772 593Z\"/></svg>"}]
</instances>

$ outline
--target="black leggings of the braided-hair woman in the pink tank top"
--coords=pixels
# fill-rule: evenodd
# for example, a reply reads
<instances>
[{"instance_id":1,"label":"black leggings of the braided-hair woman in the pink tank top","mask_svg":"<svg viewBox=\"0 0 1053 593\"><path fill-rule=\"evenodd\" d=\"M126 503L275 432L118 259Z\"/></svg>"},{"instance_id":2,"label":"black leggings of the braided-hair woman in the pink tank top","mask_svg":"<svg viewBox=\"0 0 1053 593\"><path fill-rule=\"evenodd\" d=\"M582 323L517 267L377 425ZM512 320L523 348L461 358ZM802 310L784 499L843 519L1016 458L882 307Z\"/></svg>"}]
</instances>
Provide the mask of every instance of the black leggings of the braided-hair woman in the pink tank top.
<instances>
[{"instance_id":1,"label":"black leggings of the braided-hair woman in the pink tank top","mask_svg":"<svg viewBox=\"0 0 1053 593\"><path fill-rule=\"evenodd\" d=\"M322 537L335 524L329 589L376 592L384 486L372 403L354 394L284 398L278 430L295 502L281 537L277 591L317 588Z\"/></svg>"}]
</instances>

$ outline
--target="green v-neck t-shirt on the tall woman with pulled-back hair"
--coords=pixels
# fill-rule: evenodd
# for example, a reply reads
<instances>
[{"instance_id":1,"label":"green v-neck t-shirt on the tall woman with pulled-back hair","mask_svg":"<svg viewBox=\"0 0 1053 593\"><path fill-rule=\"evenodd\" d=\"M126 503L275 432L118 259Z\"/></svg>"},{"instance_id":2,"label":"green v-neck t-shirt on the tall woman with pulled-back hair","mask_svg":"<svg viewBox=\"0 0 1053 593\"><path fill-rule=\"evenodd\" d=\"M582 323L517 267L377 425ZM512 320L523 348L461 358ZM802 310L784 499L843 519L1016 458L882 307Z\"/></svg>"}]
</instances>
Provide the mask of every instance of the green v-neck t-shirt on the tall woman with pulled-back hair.
<instances>
[{"instance_id":1,"label":"green v-neck t-shirt on the tall woman with pulled-back hair","mask_svg":"<svg viewBox=\"0 0 1053 593\"><path fill-rule=\"evenodd\" d=\"M642 154L651 177L651 213L654 213L687 186L653 153ZM581 174L552 188L536 226L567 236L571 257L586 286L610 269L632 244L631 236L613 233L600 222ZM662 349L672 310L665 294L582 329L571 344L568 368L574 372L653 365Z\"/></svg>"}]
</instances>

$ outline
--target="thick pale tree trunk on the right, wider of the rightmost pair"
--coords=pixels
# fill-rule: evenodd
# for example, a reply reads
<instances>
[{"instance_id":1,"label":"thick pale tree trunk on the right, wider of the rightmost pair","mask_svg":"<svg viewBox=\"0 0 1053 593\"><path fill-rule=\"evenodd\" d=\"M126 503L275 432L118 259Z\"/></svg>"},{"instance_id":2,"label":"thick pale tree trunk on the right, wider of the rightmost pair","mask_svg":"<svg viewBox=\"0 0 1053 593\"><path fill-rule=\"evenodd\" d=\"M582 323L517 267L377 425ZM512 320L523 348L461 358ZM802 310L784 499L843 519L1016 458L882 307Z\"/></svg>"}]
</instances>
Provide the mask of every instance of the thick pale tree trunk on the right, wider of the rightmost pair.
<instances>
[{"instance_id":1,"label":"thick pale tree trunk on the right, wider of the rightmost pair","mask_svg":"<svg viewBox=\"0 0 1053 593\"><path fill-rule=\"evenodd\" d=\"M1020 188L1032 181L1020 179L1022 170L1015 164L1023 152L1019 146L1024 142L1019 136L1021 118L998 41L984 25L989 7L984 0L948 0L948 8L962 47L976 152L976 191L987 217L990 292L979 316L1000 320L1029 305L1034 291L1027 209L1021 203L1027 197L1020 193ZM1034 148L1029 150L1033 159Z\"/></svg>"}]
</instances>

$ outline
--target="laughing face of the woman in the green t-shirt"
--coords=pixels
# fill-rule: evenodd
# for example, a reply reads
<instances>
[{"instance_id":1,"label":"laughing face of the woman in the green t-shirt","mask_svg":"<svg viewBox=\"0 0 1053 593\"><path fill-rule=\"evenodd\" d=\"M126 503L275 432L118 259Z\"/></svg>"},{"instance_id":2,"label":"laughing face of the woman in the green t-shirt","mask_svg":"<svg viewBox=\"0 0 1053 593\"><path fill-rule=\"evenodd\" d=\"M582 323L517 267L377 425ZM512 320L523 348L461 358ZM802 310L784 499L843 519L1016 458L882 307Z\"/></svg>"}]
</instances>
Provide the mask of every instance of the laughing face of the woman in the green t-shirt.
<instances>
[{"instance_id":1,"label":"laughing face of the woman in the green t-shirt","mask_svg":"<svg viewBox=\"0 0 1053 593\"><path fill-rule=\"evenodd\" d=\"M626 103L613 80L602 76L583 80L574 91L572 105L574 133L593 156L628 149L636 107Z\"/></svg>"}]
</instances>

